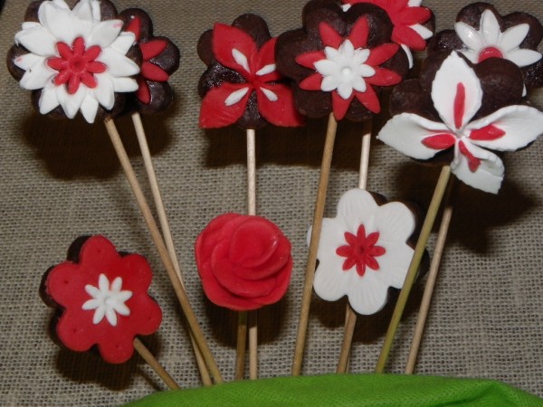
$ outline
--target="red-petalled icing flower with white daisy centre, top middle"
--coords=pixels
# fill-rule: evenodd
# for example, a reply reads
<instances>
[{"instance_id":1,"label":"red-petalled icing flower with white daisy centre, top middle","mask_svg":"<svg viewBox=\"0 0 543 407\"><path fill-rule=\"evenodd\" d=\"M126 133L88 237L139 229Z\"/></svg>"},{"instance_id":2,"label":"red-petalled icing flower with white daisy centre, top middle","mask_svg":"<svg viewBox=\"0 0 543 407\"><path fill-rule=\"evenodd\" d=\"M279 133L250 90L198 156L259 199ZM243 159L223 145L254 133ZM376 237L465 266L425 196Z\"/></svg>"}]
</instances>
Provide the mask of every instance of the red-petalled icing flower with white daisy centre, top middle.
<instances>
[{"instance_id":1,"label":"red-petalled icing flower with white daisy centre, top middle","mask_svg":"<svg viewBox=\"0 0 543 407\"><path fill-rule=\"evenodd\" d=\"M384 43L367 48L369 27L365 17L357 20L346 38L326 23L319 24L319 34L324 50L296 57L300 65L316 71L300 81L300 89L331 92L338 120L344 118L355 98L369 111L378 113L381 106L373 86L395 85L402 80L395 71L379 66L395 55L398 45Z\"/></svg>"}]
</instances>

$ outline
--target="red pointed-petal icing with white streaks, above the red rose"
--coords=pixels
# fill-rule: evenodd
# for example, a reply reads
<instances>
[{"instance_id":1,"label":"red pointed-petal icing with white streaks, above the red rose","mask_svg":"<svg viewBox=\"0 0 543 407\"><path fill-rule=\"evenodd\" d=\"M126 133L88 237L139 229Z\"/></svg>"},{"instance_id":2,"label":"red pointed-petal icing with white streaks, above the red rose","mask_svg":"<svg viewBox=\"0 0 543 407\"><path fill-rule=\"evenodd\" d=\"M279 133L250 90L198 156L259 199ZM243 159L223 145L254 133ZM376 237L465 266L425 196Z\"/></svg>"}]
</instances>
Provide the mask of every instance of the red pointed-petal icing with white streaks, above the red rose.
<instances>
[{"instance_id":1,"label":"red pointed-petal icing with white streaks, above the red rose","mask_svg":"<svg viewBox=\"0 0 543 407\"><path fill-rule=\"evenodd\" d=\"M237 122L248 109L253 93L257 115L266 121L288 127L303 124L294 108L291 88L280 83L284 78L275 66L276 41L272 38L259 48L250 33L231 25L214 24L214 59L227 70L218 78L219 83L205 92L200 127L222 128ZM233 77L238 80L232 81Z\"/></svg>"}]
</instances>

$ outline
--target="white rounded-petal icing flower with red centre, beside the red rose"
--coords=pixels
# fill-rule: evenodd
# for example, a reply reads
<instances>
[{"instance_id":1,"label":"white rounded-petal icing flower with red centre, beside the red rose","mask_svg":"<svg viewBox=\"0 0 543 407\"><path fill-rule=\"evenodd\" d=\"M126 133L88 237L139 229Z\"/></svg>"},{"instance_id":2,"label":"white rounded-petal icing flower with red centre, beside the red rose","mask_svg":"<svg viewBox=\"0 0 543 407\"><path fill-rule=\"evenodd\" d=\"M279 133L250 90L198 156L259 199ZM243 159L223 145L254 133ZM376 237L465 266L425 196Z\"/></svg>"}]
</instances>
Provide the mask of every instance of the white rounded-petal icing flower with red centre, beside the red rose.
<instances>
[{"instance_id":1,"label":"white rounded-petal icing flower with red centre, beside the red rose","mask_svg":"<svg viewBox=\"0 0 543 407\"><path fill-rule=\"evenodd\" d=\"M375 314L385 306L388 288L404 285L414 252L406 241L414 226L405 204L379 206L362 189L343 194L337 216L322 222L313 281L317 295L327 301L348 296L358 314Z\"/></svg>"}]
</instances>

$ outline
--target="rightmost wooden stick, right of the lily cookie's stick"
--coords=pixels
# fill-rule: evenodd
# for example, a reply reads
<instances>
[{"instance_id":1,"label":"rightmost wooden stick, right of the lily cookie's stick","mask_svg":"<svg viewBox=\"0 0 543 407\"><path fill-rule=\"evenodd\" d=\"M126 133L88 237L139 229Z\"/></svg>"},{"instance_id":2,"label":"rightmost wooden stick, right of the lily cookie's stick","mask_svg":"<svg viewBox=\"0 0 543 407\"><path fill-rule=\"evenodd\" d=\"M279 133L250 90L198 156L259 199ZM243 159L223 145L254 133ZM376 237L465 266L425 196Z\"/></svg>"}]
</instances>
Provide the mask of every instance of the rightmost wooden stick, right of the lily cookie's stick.
<instances>
[{"instance_id":1,"label":"rightmost wooden stick, right of the lily cookie's stick","mask_svg":"<svg viewBox=\"0 0 543 407\"><path fill-rule=\"evenodd\" d=\"M424 325L426 323L426 318L428 317L430 303L432 302L433 289L435 287L435 281L437 279L439 266L442 260L445 241L447 240L447 232L449 232L449 226L451 225L452 212L454 208L454 204L452 203L453 188L454 178L451 178L451 180L449 181L449 186L447 188L447 193L445 195L442 221L439 226L437 241L435 242L435 249L433 251L432 263L430 264L430 271L428 272L428 279L426 280L426 286L424 287L423 300L421 302L419 314L416 319L413 341L411 342L411 349L407 358L407 364L405 365L405 374L413 374L414 364L416 363L416 356L418 355L418 350L420 348L421 340L423 338Z\"/></svg>"}]
</instances>

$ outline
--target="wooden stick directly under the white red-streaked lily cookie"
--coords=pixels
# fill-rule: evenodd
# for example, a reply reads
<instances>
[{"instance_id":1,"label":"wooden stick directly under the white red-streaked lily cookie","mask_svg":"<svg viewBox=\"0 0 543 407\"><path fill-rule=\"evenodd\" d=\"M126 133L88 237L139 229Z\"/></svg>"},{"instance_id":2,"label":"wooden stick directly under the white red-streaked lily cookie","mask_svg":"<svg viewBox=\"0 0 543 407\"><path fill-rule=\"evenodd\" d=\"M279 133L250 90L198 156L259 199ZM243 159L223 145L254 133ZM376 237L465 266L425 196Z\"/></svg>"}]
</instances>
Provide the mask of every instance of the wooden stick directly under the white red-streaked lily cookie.
<instances>
[{"instance_id":1,"label":"wooden stick directly under the white red-streaked lily cookie","mask_svg":"<svg viewBox=\"0 0 543 407\"><path fill-rule=\"evenodd\" d=\"M413 287L414 279L416 278L417 271L423 258L426 243L430 237L430 232L432 232L433 222L435 221L435 217L437 216L439 207L443 201L443 194L445 193L450 176L451 167L443 166L441 175L439 175L437 185L433 191L432 201L430 202L428 213L426 213L421 234L414 248L413 259L411 260L409 270L407 270L407 275L405 276L404 287L402 287L402 290L400 291L400 295L394 308L394 313L392 314L388 330L386 331L385 342L383 343L383 347L381 348L381 353L376 364L376 373L383 373L385 371L385 364L386 360L388 359L388 355L390 354L390 349L392 348L395 331L399 326L400 320L404 313L407 298L409 298L409 293Z\"/></svg>"}]
</instances>

